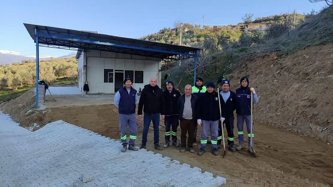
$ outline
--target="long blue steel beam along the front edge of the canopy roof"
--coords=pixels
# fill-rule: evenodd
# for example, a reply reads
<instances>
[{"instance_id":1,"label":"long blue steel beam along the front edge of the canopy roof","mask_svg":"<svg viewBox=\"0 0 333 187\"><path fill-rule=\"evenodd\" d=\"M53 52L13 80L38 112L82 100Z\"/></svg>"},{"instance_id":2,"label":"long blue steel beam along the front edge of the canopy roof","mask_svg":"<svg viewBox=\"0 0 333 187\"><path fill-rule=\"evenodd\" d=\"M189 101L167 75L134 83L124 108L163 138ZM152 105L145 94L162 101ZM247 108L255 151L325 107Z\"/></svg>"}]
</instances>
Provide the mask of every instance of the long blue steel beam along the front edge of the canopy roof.
<instances>
[{"instance_id":1,"label":"long blue steel beam along the front edge of the canopy roof","mask_svg":"<svg viewBox=\"0 0 333 187\"><path fill-rule=\"evenodd\" d=\"M40 38L48 38L48 39L65 40L65 41L71 41L71 42L82 42L82 43L88 43L88 44L97 44L97 45L105 45L105 46L112 46L112 47L128 48L128 49L138 49L138 50L146 50L146 51L154 51L154 52L194 56L193 54L190 54L190 53L182 53L182 52L175 52L175 51L151 49L151 48L145 48L145 47L126 46L126 45L119 45L119 44L111 44L111 43L107 43L107 42L97 42L97 41L81 40L81 39L75 39L75 38L51 36L51 35L46 35L46 34L41 34L41 35L39 35L39 37Z\"/></svg>"}]
</instances>

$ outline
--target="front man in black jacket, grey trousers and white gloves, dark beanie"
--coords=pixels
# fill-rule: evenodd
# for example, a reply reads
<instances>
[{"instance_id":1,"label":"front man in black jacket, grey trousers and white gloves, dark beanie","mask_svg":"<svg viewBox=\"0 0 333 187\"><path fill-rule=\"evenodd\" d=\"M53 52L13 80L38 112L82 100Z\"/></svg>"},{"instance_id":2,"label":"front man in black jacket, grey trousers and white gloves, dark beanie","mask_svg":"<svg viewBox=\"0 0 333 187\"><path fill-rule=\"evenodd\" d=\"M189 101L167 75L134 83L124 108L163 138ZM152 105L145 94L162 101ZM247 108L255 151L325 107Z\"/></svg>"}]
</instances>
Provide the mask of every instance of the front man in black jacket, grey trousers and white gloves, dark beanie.
<instances>
[{"instance_id":1,"label":"front man in black jacket, grey trousers and white gloves, dark beanie","mask_svg":"<svg viewBox=\"0 0 333 187\"><path fill-rule=\"evenodd\" d=\"M201 126L201 138L200 138L200 151L198 155L205 153L205 147L207 144L208 130L210 129L211 135L211 152L213 155L218 155L217 136L218 136L218 121L224 121L221 117L219 105L221 101L218 101L218 92L215 92L215 84L212 81L206 84L207 91L198 98L196 105L196 117L197 124ZM222 114L223 116L224 114ZM202 124L202 125L201 125Z\"/></svg>"}]
</instances>

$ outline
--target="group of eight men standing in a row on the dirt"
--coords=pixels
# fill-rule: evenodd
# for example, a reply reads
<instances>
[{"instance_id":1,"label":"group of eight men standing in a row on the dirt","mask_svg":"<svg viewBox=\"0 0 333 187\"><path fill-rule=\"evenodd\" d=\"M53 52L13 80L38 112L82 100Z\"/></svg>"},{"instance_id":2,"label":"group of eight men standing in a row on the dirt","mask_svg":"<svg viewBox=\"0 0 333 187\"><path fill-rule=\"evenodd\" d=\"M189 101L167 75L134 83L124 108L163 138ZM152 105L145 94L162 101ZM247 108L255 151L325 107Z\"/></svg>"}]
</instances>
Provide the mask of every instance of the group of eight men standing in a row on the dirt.
<instances>
[{"instance_id":1,"label":"group of eight men standing in a row on the dirt","mask_svg":"<svg viewBox=\"0 0 333 187\"><path fill-rule=\"evenodd\" d=\"M119 130L121 134L121 151L127 149L137 151L135 146L137 139L138 123L136 120L136 104L138 103L138 93L132 87L131 78L124 80L124 88L117 91L114 104L119 111ZM154 147L162 150L170 146L180 147L180 152L185 152L186 140L188 151L194 153L193 145L196 145L197 127L201 126L200 150L198 155L205 153L207 143L211 143L211 153L217 156L218 149L222 141L222 128L227 130L228 150L235 152L244 148L243 124L245 120L248 146L254 146L254 133L251 137L251 95L253 103L258 102L254 88L249 87L247 77L240 79L240 87L235 92L230 90L230 81L222 77L215 84L208 81L203 85L203 79L197 78L194 86L187 84L184 87L184 94L180 94L174 88L172 81L166 82L166 90L163 91L157 85L157 79L151 78L150 83L142 90L138 117L143 117L143 133L141 148L146 149L148 130L151 122L154 129ZM220 86L221 85L221 86ZM251 94L252 92L252 94ZM252 103L252 105L253 105ZM234 148L234 111L237 114L238 146ZM144 115L143 113L144 112ZM163 148L159 144L160 119L164 119L165 142ZM180 143L177 142L177 128L180 125ZM127 127L129 126L130 139L127 142ZM210 131L210 140L208 133ZM252 127L252 131L254 131ZM188 134L188 137L186 136ZM252 145L251 145L252 142ZM128 145L128 146L127 146ZM251 149L249 149L251 152Z\"/></svg>"}]
</instances>

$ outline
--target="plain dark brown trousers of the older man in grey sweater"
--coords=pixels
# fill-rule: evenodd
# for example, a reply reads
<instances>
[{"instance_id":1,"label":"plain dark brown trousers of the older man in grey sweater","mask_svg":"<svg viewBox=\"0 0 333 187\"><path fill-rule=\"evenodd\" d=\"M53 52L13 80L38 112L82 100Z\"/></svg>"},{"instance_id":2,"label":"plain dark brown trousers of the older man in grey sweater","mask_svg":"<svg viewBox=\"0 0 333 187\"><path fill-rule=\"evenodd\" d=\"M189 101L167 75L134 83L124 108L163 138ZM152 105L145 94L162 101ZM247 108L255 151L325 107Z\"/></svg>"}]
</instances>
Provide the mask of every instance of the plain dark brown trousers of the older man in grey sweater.
<instances>
[{"instance_id":1,"label":"plain dark brown trousers of the older man in grey sweater","mask_svg":"<svg viewBox=\"0 0 333 187\"><path fill-rule=\"evenodd\" d=\"M186 134L188 133L188 139L187 139L187 146L188 148L193 147L193 134L194 134L194 122L193 120L187 120L184 118L181 118L180 120L180 129L181 129L181 135L180 135L180 142L182 147L186 147Z\"/></svg>"}]
</instances>

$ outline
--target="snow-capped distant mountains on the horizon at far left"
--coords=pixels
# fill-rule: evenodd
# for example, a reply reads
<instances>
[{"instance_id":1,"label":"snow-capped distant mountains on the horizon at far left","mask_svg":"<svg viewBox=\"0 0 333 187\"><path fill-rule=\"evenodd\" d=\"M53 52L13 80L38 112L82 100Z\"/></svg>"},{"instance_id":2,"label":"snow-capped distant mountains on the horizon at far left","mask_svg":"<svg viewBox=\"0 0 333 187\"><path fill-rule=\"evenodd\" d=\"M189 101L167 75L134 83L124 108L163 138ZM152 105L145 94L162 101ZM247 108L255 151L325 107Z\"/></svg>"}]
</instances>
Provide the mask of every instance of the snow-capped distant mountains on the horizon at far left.
<instances>
[{"instance_id":1,"label":"snow-capped distant mountains on the horizon at far left","mask_svg":"<svg viewBox=\"0 0 333 187\"><path fill-rule=\"evenodd\" d=\"M39 60L51 60L51 58L68 58L75 56L76 51L71 52L68 55L53 57L53 56L39 56ZM22 60L35 60L36 56L24 56L20 55L19 52L9 51L9 50L0 50L0 65L11 64L15 62L21 62Z\"/></svg>"}]
</instances>

